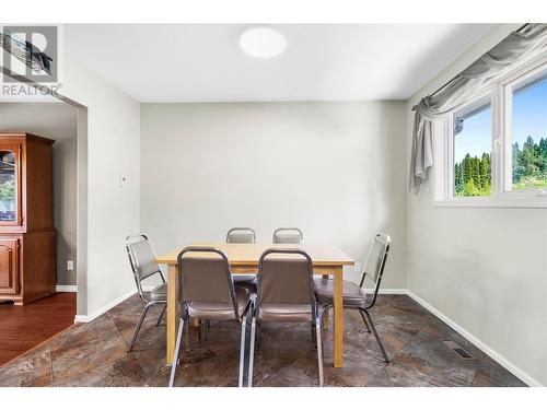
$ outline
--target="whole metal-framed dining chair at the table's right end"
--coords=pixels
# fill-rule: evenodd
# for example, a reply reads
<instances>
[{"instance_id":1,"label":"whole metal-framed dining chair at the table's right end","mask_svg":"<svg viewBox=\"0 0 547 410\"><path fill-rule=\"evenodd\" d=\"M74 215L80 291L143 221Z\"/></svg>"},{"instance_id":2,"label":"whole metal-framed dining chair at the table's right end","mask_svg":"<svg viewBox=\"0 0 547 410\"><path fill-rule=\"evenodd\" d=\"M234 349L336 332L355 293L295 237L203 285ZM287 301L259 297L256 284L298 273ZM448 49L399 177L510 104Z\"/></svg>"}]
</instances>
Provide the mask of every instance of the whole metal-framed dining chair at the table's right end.
<instances>
[{"instance_id":1,"label":"whole metal-framed dining chair at the table's right end","mask_svg":"<svg viewBox=\"0 0 547 410\"><path fill-rule=\"evenodd\" d=\"M364 270L361 276L361 281L359 285L350 281L342 282L342 306L344 308L357 309L359 311L361 318L363 319L366 331L370 333L371 329L374 333L380 350L384 356L384 361L389 363L389 359L385 352L384 345L380 340L380 336L376 331L376 327L372 321L372 317L369 311L374 306L377 298L377 293L380 290L380 284L382 282L382 277L384 273L385 261L387 260L387 254L389 251L391 237L384 234L377 234L372 242L369 249L369 255L364 265ZM366 294L364 292L363 284L364 281L369 279L372 281L373 291L372 294ZM333 307L334 302L334 280L331 279L315 279L314 280L315 295L319 303L319 321L323 318L323 314Z\"/></svg>"}]
</instances>

